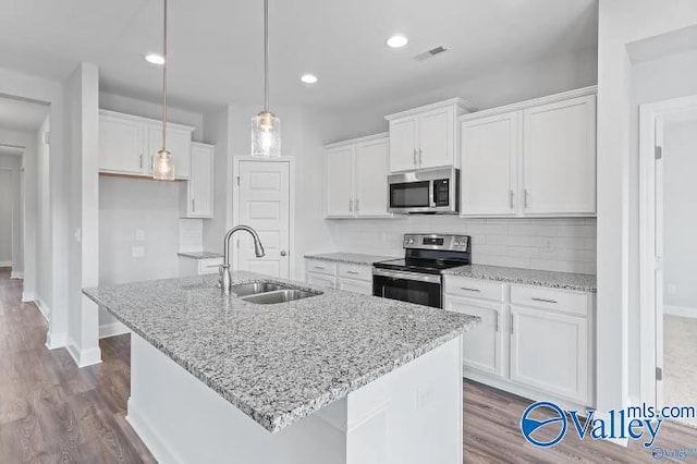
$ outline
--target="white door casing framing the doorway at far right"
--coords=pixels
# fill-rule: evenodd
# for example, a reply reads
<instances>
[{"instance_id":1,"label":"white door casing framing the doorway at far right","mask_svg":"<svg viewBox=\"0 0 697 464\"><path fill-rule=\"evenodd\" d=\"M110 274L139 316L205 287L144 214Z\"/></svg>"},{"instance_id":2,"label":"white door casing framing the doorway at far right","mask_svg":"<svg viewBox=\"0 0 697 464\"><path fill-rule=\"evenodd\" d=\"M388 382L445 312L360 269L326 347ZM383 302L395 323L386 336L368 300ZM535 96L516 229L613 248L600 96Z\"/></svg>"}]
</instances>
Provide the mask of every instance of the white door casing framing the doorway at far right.
<instances>
[{"instance_id":1,"label":"white door casing framing the doorway at far right","mask_svg":"<svg viewBox=\"0 0 697 464\"><path fill-rule=\"evenodd\" d=\"M660 401L656 368L662 367L662 353L657 353L661 350L657 326L664 310L656 304L655 150L662 142L659 138L663 118L693 108L697 108L697 95L639 106L639 396L647 404Z\"/></svg>"}]
</instances>

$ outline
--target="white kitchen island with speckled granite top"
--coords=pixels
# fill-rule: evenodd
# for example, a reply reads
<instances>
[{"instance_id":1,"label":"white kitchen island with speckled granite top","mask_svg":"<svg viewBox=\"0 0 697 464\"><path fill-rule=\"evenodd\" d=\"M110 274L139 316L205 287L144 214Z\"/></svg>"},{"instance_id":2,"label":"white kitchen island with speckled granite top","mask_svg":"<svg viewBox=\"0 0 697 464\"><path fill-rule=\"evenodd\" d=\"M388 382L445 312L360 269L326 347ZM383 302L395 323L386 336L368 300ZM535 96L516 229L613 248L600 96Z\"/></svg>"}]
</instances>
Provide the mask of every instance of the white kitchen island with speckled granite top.
<instances>
[{"instance_id":1,"label":"white kitchen island with speckled granite top","mask_svg":"<svg viewBox=\"0 0 697 464\"><path fill-rule=\"evenodd\" d=\"M132 331L127 420L160 462L461 463L461 339L478 318L322 294L223 297L201 276L87 289Z\"/></svg>"}]
</instances>

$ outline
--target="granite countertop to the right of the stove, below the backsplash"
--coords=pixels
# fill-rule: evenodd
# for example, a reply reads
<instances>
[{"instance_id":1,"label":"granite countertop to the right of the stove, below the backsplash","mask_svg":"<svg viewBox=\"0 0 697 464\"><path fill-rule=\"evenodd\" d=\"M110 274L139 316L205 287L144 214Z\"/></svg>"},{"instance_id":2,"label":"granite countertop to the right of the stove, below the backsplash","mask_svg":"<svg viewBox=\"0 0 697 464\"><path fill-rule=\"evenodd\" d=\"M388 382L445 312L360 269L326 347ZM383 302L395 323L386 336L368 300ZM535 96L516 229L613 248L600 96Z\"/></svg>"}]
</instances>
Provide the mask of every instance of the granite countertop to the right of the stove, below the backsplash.
<instances>
[{"instance_id":1,"label":"granite countertop to the right of the stove, below the backsplash","mask_svg":"<svg viewBox=\"0 0 697 464\"><path fill-rule=\"evenodd\" d=\"M555 272L536 269L505 268L500 266L468 265L443 271L445 276L470 279L496 280L525 285L596 292L596 276L586 273Z\"/></svg>"}]
</instances>

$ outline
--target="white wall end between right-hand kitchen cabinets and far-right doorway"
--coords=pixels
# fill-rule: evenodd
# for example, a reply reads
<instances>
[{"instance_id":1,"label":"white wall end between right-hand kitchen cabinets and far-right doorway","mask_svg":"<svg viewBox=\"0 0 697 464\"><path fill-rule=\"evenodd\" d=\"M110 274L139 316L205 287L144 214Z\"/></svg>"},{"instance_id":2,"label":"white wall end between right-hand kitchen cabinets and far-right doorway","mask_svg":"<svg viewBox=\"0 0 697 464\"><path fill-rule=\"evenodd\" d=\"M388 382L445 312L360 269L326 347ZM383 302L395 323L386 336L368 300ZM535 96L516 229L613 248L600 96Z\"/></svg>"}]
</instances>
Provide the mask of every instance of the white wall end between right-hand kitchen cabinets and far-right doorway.
<instances>
[{"instance_id":1,"label":"white wall end between right-hand kitchen cabinets and far-right doorway","mask_svg":"<svg viewBox=\"0 0 697 464\"><path fill-rule=\"evenodd\" d=\"M627 46L697 23L692 0L600 0L598 34L598 410L623 407L638 396L638 291L631 285L632 148L638 118L632 100ZM661 84L665 88L670 82ZM631 233L631 231L634 231Z\"/></svg>"}]
</instances>

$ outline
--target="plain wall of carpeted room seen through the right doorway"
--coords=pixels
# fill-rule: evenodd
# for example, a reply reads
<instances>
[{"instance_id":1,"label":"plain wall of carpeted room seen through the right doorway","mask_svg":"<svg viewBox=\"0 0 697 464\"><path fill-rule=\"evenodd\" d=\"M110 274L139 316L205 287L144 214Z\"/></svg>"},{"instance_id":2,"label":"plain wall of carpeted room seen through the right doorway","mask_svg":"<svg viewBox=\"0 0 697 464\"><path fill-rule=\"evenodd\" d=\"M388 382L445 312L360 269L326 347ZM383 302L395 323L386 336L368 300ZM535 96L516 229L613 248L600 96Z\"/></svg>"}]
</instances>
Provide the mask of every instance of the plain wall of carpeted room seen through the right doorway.
<instances>
[{"instance_id":1,"label":"plain wall of carpeted room seen through the right doorway","mask_svg":"<svg viewBox=\"0 0 697 464\"><path fill-rule=\"evenodd\" d=\"M663 136L664 303L697 317L697 184L686 174L697 172L697 118L667 125Z\"/></svg>"}]
</instances>

